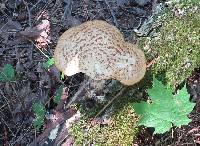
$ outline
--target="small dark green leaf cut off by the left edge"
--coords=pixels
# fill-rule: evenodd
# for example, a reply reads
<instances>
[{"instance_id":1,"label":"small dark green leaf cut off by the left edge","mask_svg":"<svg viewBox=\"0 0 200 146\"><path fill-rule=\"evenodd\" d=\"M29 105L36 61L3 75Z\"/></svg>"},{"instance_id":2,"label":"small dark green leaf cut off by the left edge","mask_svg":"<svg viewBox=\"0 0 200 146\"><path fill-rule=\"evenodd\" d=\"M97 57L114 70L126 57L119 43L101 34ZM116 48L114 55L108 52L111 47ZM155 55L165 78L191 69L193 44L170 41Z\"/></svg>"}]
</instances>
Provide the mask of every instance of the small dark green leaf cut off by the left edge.
<instances>
[{"instance_id":1,"label":"small dark green leaf cut off by the left edge","mask_svg":"<svg viewBox=\"0 0 200 146\"><path fill-rule=\"evenodd\" d=\"M8 82L12 81L15 77L15 71L11 64L6 64L2 70L0 70L0 81Z\"/></svg>"}]
</instances>

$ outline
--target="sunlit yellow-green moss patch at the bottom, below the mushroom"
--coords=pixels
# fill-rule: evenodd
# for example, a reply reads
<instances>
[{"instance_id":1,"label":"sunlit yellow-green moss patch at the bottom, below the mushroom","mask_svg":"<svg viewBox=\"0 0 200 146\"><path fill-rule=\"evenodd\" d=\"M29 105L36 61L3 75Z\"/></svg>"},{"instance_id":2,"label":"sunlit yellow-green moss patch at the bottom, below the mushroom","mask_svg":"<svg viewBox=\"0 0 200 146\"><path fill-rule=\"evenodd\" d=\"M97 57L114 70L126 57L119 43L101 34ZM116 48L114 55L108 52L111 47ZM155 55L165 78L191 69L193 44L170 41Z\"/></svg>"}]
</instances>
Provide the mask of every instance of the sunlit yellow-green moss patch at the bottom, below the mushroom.
<instances>
[{"instance_id":1,"label":"sunlit yellow-green moss patch at the bottom, below the mushroom","mask_svg":"<svg viewBox=\"0 0 200 146\"><path fill-rule=\"evenodd\" d=\"M75 137L76 146L129 146L137 133L136 121L132 107L126 106L112 117L110 124L91 126L81 120L70 129L70 134Z\"/></svg>"}]
</instances>

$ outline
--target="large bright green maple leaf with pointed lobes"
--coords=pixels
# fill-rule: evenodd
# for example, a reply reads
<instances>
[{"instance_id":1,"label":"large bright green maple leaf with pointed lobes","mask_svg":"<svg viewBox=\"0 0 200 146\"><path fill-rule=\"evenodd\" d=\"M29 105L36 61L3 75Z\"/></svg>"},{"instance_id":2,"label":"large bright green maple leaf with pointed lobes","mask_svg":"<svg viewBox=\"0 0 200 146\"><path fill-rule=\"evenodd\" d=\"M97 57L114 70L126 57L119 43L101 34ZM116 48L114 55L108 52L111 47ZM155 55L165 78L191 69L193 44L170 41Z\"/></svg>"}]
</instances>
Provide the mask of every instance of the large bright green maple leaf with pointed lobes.
<instances>
[{"instance_id":1,"label":"large bright green maple leaf with pointed lobes","mask_svg":"<svg viewBox=\"0 0 200 146\"><path fill-rule=\"evenodd\" d=\"M192 111L195 103L189 101L186 87L176 95L167 89L160 81L153 79L153 87L148 90L151 102L134 103L135 112L141 116L139 125L154 127L154 133L168 131L172 124L180 127L187 125L191 120L187 115Z\"/></svg>"}]
</instances>

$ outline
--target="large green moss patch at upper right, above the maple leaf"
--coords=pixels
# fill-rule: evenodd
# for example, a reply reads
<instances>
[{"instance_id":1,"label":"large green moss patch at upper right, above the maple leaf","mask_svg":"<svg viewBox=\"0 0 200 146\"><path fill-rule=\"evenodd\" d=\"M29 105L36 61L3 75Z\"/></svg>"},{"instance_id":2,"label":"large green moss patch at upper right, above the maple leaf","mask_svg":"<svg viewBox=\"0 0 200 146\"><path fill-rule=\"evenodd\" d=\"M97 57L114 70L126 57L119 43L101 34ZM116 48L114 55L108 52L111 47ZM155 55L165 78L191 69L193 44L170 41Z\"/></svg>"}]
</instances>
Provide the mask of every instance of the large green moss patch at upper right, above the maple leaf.
<instances>
[{"instance_id":1,"label":"large green moss patch at upper right, above the maple leaf","mask_svg":"<svg viewBox=\"0 0 200 146\"><path fill-rule=\"evenodd\" d=\"M197 1L193 2L188 3L190 10L185 9L181 17L173 16L169 10L160 18L163 23L156 37L141 38L139 42L143 48L148 46L149 60L155 58L155 54L159 56L152 73L173 88L200 66L200 8L192 10L191 6ZM180 5L183 8L183 3Z\"/></svg>"}]
</instances>

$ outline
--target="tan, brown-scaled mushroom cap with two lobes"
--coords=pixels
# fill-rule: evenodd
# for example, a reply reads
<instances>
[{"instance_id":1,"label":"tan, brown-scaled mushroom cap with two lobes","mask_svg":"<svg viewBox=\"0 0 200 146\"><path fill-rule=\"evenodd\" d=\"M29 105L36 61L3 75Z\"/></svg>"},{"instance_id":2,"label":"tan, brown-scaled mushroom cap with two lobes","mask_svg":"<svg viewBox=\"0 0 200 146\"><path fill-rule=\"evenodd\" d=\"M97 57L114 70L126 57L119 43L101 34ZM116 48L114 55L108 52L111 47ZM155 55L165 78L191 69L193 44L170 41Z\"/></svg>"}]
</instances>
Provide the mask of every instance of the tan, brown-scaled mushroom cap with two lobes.
<instances>
[{"instance_id":1,"label":"tan, brown-scaled mushroom cap with two lobes","mask_svg":"<svg viewBox=\"0 0 200 146\"><path fill-rule=\"evenodd\" d=\"M142 50L124 41L113 25L94 20L65 31L59 38L54 59L65 75L82 72L94 80L116 79L125 85L140 81L146 71Z\"/></svg>"}]
</instances>

